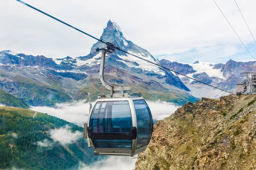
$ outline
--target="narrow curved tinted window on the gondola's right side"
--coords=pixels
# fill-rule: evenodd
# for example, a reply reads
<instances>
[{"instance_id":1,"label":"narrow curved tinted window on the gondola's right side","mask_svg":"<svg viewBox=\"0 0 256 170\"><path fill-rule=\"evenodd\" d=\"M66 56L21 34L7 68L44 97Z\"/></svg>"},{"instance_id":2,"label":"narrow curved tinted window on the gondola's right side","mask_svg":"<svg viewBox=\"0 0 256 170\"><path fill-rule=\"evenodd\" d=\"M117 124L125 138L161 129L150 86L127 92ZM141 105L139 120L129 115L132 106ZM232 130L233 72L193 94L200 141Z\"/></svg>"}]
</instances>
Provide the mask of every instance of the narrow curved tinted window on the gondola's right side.
<instances>
[{"instance_id":1,"label":"narrow curved tinted window on the gondola's right side","mask_svg":"<svg viewBox=\"0 0 256 170\"><path fill-rule=\"evenodd\" d=\"M145 146L151 139L153 130L152 115L144 100L134 100L137 116L137 148Z\"/></svg>"}]
</instances>

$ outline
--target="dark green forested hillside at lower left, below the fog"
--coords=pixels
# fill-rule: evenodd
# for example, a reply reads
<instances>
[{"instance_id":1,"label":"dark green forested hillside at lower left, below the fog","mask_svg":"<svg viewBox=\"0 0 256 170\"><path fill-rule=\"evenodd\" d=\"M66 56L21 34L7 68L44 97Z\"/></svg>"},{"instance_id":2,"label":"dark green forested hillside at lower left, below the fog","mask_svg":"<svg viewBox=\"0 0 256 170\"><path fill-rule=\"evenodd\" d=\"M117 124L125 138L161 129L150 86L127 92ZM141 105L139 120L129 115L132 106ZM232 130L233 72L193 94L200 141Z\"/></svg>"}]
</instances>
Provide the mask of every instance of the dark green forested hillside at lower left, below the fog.
<instances>
[{"instance_id":1,"label":"dark green forested hillside at lower left, below the fog","mask_svg":"<svg viewBox=\"0 0 256 170\"><path fill-rule=\"evenodd\" d=\"M82 127L45 113L33 118L34 114L22 108L0 107L0 169L77 169L105 158L93 156L93 148L82 138ZM72 135L79 133L79 138L70 144L55 142L51 130L67 126ZM44 141L49 146L38 144Z\"/></svg>"}]
</instances>

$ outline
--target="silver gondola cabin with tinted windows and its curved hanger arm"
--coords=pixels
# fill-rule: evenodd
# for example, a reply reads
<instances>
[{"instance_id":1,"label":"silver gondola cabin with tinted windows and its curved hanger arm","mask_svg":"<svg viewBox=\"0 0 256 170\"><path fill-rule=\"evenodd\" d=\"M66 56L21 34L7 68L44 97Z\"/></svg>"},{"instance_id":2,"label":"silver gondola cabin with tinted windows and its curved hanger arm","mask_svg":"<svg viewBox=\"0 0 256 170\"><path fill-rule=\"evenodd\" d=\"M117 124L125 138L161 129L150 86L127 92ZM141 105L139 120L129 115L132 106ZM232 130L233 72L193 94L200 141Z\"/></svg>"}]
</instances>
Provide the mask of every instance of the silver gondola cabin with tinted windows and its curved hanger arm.
<instances>
[{"instance_id":1,"label":"silver gondola cabin with tinted windows and its curved hanger arm","mask_svg":"<svg viewBox=\"0 0 256 170\"><path fill-rule=\"evenodd\" d=\"M88 123L84 124L84 138L88 136L88 147L94 148L94 155L134 156L144 152L150 142L152 115L140 93L126 93L131 92L129 87L113 87L105 83L105 54L112 53L110 49L114 51L111 46L101 49L100 79L111 94L99 95L93 107L90 104ZM89 93L88 96L90 102Z\"/></svg>"}]
</instances>

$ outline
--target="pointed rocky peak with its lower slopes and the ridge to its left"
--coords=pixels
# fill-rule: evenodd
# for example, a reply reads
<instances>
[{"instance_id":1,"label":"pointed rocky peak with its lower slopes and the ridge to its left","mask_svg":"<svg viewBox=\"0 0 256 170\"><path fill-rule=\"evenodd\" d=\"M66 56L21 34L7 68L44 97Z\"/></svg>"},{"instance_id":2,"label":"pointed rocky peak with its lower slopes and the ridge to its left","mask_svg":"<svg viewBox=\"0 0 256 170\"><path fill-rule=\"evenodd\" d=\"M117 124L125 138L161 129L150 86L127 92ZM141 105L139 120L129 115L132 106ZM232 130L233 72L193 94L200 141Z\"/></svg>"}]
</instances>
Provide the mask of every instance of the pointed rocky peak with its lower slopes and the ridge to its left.
<instances>
[{"instance_id":1,"label":"pointed rocky peak with its lower slopes and the ridge to its left","mask_svg":"<svg viewBox=\"0 0 256 170\"><path fill-rule=\"evenodd\" d=\"M111 20L100 39L160 63L148 51L126 40L119 26ZM52 106L55 102L84 99L86 92L91 92L96 98L99 93L108 93L99 80L101 52L96 51L96 48L104 46L97 42L86 56L62 59L1 51L0 88L34 106ZM172 72L120 51L107 54L105 79L110 84L130 86L132 92L140 91L149 100L184 104L196 99Z\"/></svg>"}]
</instances>

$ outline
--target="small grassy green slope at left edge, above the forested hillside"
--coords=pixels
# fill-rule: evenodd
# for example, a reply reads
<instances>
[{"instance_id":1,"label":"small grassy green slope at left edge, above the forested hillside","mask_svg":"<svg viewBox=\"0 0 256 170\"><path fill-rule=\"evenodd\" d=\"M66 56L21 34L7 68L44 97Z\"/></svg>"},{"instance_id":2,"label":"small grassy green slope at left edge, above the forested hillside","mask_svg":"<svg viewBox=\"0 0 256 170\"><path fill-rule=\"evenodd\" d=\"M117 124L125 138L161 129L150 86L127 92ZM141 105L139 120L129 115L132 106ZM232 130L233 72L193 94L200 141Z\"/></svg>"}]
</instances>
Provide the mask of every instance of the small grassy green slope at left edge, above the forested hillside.
<instances>
[{"instance_id":1,"label":"small grassy green slope at left edge, above the forested hillside","mask_svg":"<svg viewBox=\"0 0 256 170\"><path fill-rule=\"evenodd\" d=\"M18 107L18 108L25 108L25 109L29 108L29 106L26 103L22 102L17 97L7 93L2 89L0 89L0 104L6 105L6 106Z\"/></svg>"}]
</instances>

